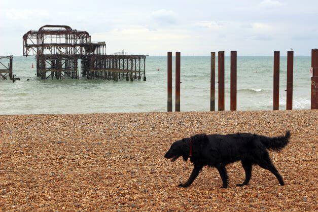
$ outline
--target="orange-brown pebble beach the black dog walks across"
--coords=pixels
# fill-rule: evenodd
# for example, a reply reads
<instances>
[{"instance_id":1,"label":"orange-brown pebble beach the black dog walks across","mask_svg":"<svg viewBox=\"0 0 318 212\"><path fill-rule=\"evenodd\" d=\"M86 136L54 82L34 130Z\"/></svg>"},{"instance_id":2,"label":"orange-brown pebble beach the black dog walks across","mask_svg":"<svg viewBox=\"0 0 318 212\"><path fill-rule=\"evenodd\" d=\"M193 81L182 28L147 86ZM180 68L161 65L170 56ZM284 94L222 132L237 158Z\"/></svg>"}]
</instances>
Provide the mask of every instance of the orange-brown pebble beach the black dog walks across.
<instances>
[{"instance_id":1,"label":"orange-brown pebble beach the black dog walks across","mask_svg":"<svg viewBox=\"0 0 318 212\"><path fill-rule=\"evenodd\" d=\"M0 116L2 211L316 211L318 111L179 112ZM204 167L163 158L172 142L195 133L282 135L270 152L285 186L253 167L248 186L240 162L227 166L229 188Z\"/></svg>"}]
</instances>

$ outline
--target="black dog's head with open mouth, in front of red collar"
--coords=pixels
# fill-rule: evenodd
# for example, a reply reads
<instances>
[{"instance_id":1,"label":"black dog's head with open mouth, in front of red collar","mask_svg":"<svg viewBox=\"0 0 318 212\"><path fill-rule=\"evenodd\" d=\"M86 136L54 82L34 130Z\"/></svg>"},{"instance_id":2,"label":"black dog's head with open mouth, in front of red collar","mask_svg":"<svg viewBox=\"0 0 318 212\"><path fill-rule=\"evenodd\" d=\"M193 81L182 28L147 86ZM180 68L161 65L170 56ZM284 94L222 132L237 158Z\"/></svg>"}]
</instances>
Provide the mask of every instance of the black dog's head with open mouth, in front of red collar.
<instances>
[{"instance_id":1,"label":"black dog's head with open mouth, in front of red collar","mask_svg":"<svg viewBox=\"0 0 318 212\"><path fill-rule=\"evenodd\" d=\"M189 158L189 142L187 142L187 139L189 138L183 138L182 140L177 140L174 142L170 149L166 152L164 155L165 158L170 159L172 162L174 162L176 159L178 159L180 156L183 157L184 161L187 161Z\"/></svg>"}]
</instances>

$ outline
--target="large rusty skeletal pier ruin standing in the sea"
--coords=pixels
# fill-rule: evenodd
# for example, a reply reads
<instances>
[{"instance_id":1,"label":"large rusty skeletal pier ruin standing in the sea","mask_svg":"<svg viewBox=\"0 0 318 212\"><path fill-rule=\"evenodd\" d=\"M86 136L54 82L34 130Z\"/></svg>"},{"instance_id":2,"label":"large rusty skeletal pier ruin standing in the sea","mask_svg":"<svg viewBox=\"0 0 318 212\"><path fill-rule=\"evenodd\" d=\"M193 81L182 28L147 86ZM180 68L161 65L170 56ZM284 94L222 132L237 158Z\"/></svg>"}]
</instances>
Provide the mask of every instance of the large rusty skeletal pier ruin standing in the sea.
<instances>
[{"instance_id":1,"label":"large rusty skeletal pier ruin standing in the sea","mask_svg":"<svg viewBox=\"0 0 318 212\"><path fill-rule=\"evenodd\" d=\"M124 52L106 54L105 42L92 43L86 31L65 25L45 25L23 36L23 55L36 55L37 76L41 79L88 79L146 81L146 55ZM80 61L80 62L79 62Z\"/></svg>"}]
</instances>

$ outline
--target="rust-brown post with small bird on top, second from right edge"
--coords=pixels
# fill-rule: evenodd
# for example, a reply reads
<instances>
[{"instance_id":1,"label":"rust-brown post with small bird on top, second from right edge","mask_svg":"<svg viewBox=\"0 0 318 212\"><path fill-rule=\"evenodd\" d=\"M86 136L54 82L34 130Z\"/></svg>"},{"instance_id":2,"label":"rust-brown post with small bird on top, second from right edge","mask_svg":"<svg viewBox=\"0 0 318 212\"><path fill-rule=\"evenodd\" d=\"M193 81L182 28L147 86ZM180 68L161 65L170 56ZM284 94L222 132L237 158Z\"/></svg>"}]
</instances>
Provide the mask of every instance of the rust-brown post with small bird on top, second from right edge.
<instances>
[{"instance_id":1,"label":"rust-brown post with small bird on top, second from right edge","mask_svg":"<svg viewBox=\"0 0 318 212\"><path fill-rule=\"evenodd\" d=\"M287 88L286 88L286 110L293 110L293 72L294 72L294 52L287 52Z\"/></svg>"}]
</instances>

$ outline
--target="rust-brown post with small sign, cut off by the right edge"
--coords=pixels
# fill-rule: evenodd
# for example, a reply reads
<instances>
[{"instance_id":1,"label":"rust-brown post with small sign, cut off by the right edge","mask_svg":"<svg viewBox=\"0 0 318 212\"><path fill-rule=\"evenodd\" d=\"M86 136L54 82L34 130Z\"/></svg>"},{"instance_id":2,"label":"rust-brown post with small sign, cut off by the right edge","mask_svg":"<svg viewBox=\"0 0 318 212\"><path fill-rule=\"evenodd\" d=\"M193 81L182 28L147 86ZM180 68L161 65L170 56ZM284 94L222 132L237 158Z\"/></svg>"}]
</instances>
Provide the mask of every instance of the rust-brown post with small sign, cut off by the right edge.
<instances>
[{"instance_id":1,"label":"rust-brown post with small sign, cut off by the right edge","mask_svg":"<svg viewBox=\"0 0 318 212\"><path fill-rule=\"evenodd\" d=\"M318 49L311 50L311 109L318 109Z\"/></svg>"}]
</instances>

